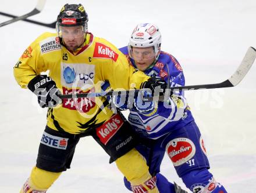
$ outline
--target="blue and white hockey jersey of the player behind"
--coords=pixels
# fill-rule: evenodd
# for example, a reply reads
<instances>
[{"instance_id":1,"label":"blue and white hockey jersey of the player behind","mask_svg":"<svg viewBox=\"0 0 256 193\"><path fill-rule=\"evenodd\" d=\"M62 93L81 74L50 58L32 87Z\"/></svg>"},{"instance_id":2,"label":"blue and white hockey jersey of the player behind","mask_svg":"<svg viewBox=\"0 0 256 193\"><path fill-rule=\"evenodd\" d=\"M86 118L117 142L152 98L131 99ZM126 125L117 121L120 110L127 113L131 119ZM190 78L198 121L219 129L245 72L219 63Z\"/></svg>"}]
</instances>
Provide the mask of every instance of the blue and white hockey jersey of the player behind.
<instances>
[{"instance_id":1,"label":"blue and white hockey jersey of the player behind","mask_svg":"<svg viewBox=\"0 0 256 193\"><path fill-rule=\"evenodd\" d=\"M128 56L127 46L120 48L120 51L126 54L134 65L133 59ZM170 87L185 85L182 67L175 57L166 52L161 51L154 67L145 70L144 73L150 77L161 77L166 82L169 80ZM180 91L174 92L168 101L158 102L157 108L148 114L131 109L128 120L141 137L158 139L172 130L182 128L194 118L184 97L184 91Z\"/></svg>"}]
</instances>

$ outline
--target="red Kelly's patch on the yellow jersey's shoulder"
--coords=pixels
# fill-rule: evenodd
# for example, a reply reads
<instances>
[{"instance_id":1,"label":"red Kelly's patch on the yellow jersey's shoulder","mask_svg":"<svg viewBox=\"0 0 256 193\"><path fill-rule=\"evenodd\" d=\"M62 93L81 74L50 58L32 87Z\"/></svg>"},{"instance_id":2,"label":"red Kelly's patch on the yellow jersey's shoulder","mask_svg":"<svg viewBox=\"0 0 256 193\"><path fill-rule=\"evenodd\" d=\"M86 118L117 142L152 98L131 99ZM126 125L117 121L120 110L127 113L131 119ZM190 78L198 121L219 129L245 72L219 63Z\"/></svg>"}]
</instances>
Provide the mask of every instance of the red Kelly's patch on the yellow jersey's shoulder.
<instances>
[{"instance_id":1,"label":"red Kelly's patch on the yellow jersey's shoulder","mask_svg":"<svg viewBox=\"0 0 256 193\"><path fill-rule=\"evenodd\" d=\"M96 42L93 57L96 59L118 60L118 54L103 43Z\"/></svg>"}]
</instances>

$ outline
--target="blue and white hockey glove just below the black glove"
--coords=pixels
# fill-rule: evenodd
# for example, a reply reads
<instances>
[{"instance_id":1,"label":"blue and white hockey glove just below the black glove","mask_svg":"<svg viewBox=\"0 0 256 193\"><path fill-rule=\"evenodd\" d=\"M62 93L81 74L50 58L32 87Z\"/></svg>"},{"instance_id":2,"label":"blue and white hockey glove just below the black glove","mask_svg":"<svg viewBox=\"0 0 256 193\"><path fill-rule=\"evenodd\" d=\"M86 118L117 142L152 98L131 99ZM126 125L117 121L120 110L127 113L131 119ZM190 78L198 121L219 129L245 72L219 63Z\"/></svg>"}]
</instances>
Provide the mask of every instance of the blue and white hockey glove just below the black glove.
<instances>
[{"instance_id":1,"label":"blue and white hockey glove just below the black glove","mask_svg":"<svg viewBox=\"0 0 256 193\"><path fill-rule=\"evenodd\" d=\"M141 112L142 114L147 112L148 114L154 110L155 103L154 101L145 102L143 101L143 97L152 97L152 94L147 91L143 93L139 92L138 96L134 99L134 107L136 111Z\"/></svg>"}]
</instances>

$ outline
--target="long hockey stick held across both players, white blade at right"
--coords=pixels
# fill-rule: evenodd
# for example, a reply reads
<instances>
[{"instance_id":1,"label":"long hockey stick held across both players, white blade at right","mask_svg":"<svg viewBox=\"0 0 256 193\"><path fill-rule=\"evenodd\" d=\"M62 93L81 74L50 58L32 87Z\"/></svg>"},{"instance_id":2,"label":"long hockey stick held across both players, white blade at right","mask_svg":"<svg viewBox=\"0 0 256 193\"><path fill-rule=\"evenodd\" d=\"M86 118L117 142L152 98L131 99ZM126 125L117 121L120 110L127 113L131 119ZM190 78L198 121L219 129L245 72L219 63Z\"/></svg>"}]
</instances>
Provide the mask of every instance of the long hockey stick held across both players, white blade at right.
<instances>
[{"instance_id":1,"label":"long hockey stick held across both players, white blade at right","mask_svg":"<svg viewBox=\"0 0 256 193\"><path fill-rule=\"evenodd\" d=\"M168 89L168 92L170 93L170 91L173 91L173 90L217 89L217 88L228 88L228 87L236 86L239 84L239 82L241 82L241 80L245 77L247 72L250 70L251 65L253 65L255 58L256 58L256 49L253 47L250 47L248 48L246 55L244 56L237 70L226 81L223 81L221 83L208 84L208 85L171 87ZM109 92L101 92L101 93L62 94L59 97L61 99L72 99L72 98L81 98L81 97L89 98L89 97L100 97L100 96L106 97L106 96L127 95L131 93L138 93L138 92L143 92L143 90L147 90L147 89L125 90L121 93L116 90L111 90ZM144 101L163 100L159 98L160 98L159 96L144 97Z\"/></svg>"}]
</instances>

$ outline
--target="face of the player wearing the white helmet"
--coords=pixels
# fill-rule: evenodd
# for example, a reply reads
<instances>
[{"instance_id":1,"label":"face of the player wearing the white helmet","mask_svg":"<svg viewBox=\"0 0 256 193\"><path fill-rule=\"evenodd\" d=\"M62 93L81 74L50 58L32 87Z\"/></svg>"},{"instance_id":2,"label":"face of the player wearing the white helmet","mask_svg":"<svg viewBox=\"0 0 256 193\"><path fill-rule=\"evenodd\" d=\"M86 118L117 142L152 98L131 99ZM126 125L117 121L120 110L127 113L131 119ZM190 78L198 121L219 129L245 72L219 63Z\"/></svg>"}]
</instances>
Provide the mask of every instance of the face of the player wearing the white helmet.
<instances>
[{"instance_id":1,"label":"face of the player wearing the white helmet","mask_svg":"<svg viewBox=\"0 0 256 193\"><path fill-rule=\"evenodd\" d=\"M133 47L131 54L138 70L146 70L155 61L154 46L148 48Z\"/></svg>"}]
</instances>

